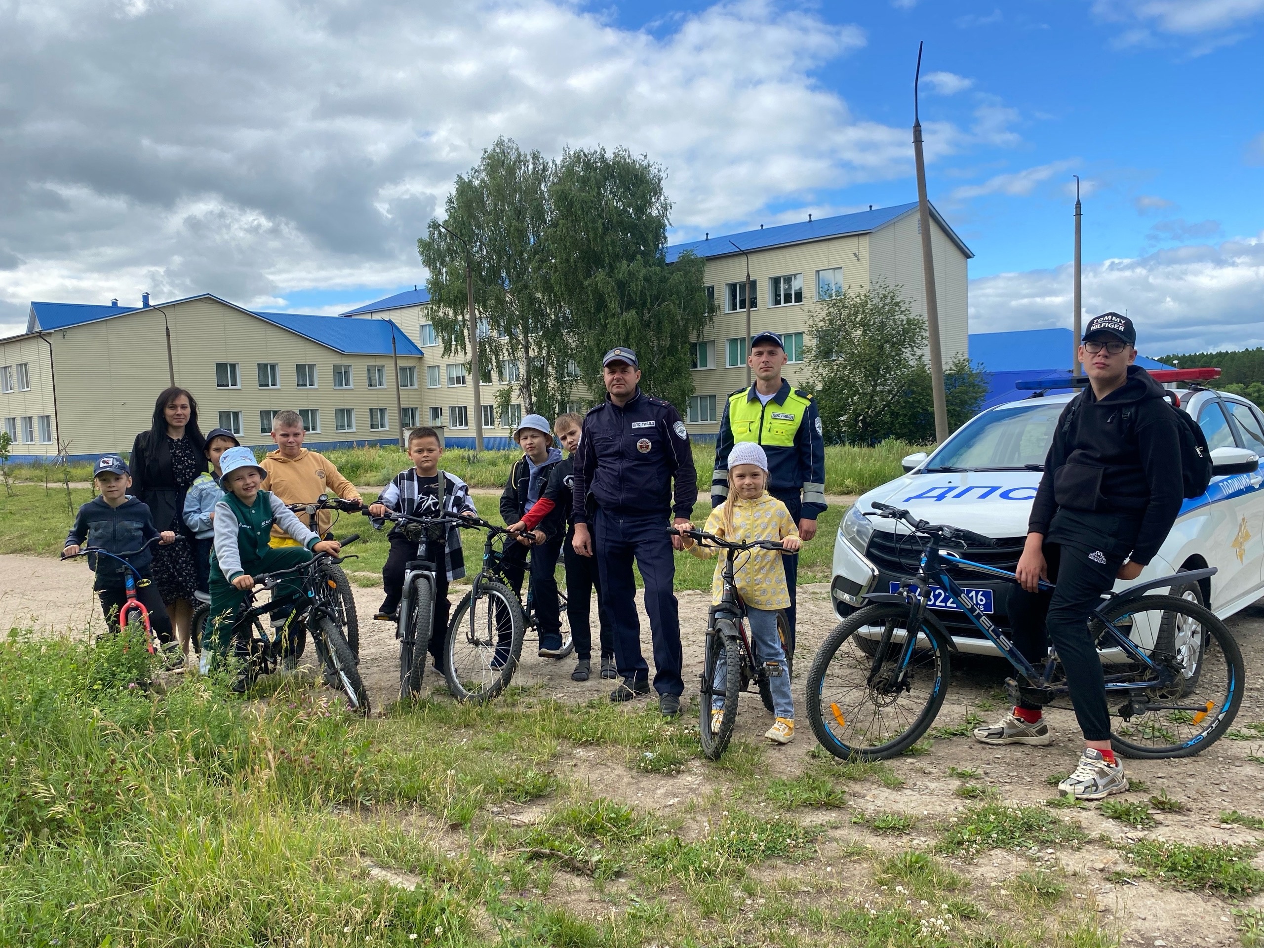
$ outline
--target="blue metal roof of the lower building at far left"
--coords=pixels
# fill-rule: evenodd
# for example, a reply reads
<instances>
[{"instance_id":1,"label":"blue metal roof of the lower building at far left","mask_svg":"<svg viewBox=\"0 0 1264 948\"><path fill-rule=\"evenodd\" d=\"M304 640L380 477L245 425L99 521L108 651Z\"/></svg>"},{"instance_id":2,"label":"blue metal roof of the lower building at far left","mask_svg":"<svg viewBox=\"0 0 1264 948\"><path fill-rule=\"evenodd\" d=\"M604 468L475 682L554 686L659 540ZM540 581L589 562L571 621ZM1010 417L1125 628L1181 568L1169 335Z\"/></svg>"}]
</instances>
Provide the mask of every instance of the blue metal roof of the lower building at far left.
<instances>
[{"instance_id":1,"label":"blue metal roof of the lower building at far left","mask_svg":"<svg viewBox=\"0 0 1264 948\"><path fill-rule=\"evenodd\" d=\"M391 320L348 320L341 316L307 316L295 312L254 312L228 300L220 300L211 293L172 300L157 303L149 308L174 306L190 300L215 300L234 310L258 316L276 326L297 332L313 343L334 349L349 355L391 355L391 335L394 334L396 351L399 355L423 355L417 344L413 343ZM67 329L70 326L82 326L87 322L109 320L115 316L124 316L129 312L139 312L144 307L125 306L90 306L85 303L44 303L33 302L30 313L27 317L27 331Z\"/></svg>"}]
</instances>

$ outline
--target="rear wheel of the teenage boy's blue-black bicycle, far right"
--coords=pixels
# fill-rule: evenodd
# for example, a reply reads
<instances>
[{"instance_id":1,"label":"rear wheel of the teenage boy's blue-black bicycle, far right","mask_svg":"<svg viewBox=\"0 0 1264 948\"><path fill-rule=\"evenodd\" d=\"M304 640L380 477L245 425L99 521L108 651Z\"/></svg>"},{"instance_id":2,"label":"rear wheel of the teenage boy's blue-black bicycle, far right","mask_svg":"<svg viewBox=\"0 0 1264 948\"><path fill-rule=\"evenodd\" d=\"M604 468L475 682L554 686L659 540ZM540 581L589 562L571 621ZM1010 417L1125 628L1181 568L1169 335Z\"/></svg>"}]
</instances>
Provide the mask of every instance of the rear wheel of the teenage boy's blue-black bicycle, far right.
<instances>
[{"instance_id":1,"label":"rear wheel of the teenage boy's blue-black bicycle, far right","mask_svg":"<svg viewBox=\"0 0 1264 948\"><path fill-rule=\"evenodd\" d=\"M1165 686L1106 693L1115 750L1153 760L1189 757L1211 747L1237 715L1246 681L1243 653L1225 623L1174 595L1143 595L1107 607L1102 616L1154 665L1172 672ZM1107 683L1155 678L1120 648L1102 650L1102 670Z\"/></svg>"}]
</instances>

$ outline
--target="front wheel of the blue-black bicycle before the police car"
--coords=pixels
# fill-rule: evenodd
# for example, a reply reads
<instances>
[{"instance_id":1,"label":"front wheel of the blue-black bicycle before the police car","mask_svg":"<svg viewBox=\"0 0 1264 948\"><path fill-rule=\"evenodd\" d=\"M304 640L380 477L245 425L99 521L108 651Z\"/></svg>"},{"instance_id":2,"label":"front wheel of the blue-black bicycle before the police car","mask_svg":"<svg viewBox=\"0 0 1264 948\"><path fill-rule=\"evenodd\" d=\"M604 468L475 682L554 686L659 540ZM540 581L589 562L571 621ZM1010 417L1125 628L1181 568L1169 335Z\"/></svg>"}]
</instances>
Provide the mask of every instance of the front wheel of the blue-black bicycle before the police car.
<instances>
[{"instance_id":1,"label":"front wheel of the blue-black bicycle before the police car","mask_svg":"<svg viewBox=\"0 0 1264 948\"><path fill-rule=\"evenodd\" d=\"M948 643L923 623L901 671L908 626L908 605L867 605L839 622L817 651L805 685L808 722L820 746L836 757L895 757L939 713L948 691ZM875 657L858 645L862 637L876 640L875 656L885 656L872 681Z\"/></svg>"}]
</instances>

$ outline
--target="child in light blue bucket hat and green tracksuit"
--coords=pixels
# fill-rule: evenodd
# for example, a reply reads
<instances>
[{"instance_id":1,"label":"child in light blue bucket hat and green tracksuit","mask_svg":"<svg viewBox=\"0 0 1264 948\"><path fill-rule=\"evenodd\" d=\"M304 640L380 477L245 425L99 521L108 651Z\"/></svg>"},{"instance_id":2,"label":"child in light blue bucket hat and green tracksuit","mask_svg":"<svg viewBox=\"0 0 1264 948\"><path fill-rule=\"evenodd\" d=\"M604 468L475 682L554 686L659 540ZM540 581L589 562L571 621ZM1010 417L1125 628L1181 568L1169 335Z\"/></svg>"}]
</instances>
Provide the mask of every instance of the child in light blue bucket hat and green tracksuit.
<instances>
[{"instance_id":1,"label":"child in light blue bucket hat and green tracksuit","mask_svg":"<svg viewBox=\"0 0 1264 948\"><path fill-rule=\"evenodd\" d=\"M214 660L228 657L234 645L238 657L245 657L245 642L234 635L234 619L245 594L254 586L255 573L289 569L312 557L312 552L339 551L336 540L321 540L303 526L279 497L260 490L267 471L254 459L249 447L230 447L220 455L220 483L225 494L215 504L215 550L211 554L211 616L207 627L210 641L202 642L202 669ZM269 546L273 525L293 537L300 546ZM292 576L272 593L276 613L289 611L301 592L301 583ZM296 623L297 624L297 623ZM293 628L293 637L284 651L297 656L302 651L302 628ZM239 678L236 690L244 690Z\"/></svg>"}]
</instances>

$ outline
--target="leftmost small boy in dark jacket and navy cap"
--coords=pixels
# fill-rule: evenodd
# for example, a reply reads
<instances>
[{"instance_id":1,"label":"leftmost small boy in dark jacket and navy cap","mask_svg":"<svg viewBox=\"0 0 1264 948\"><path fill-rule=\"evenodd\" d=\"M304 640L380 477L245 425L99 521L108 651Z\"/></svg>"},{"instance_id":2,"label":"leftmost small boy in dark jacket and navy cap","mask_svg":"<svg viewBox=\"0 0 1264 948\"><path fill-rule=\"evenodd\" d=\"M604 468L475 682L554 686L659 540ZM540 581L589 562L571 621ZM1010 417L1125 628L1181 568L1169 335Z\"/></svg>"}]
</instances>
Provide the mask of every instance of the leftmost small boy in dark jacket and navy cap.
<instances>
[{"instance_id":1,"label":"leftmost small boy in dark jacket and navy cap","mask_svg":"<svg viewBox=\"0 0 1264 948\"><path fill-rule=\"evenodd\" d=\"M128 556L140 579L137 580L137 599L149 612L149 626L158 633L163 642L171 641L171 618L167 616L167 607L163 605L158 588L153 584L149 565L153 562L152 547L144 546L147 540L161 536L161 544L176 541L176 533L167 530L162 533L154 527L149 507L134 497L128 495L131 487L131 471L118 455L106 455L97 460L96 473L92 477L96 487L101 492L100 497L88 501L80 507L75 517L75 525L62 544L62 556L73 556L80 551L85 541L91 540L92 546L99 546L107 552L125 554L133 550L139 552ZM88 560L94 557L88 555ZM101 600L101 612L110 624L111 632L119 631L119 609L128 600L126 579L128 568L109 556L95 557L96 562L88 565L96 570L96 581L92 589L96 590Z\"/></svg>"}]
</instances>

